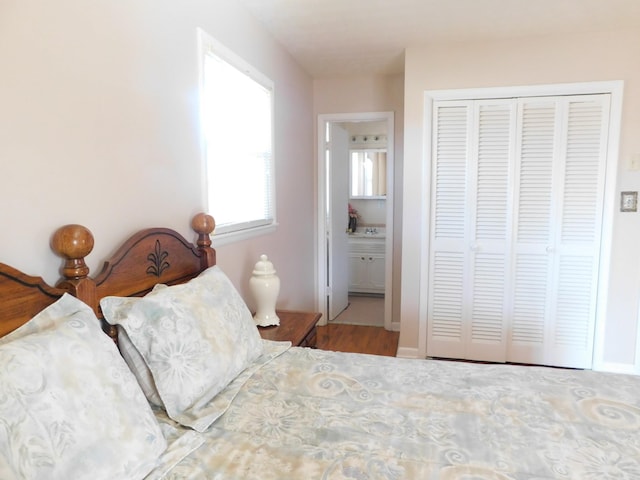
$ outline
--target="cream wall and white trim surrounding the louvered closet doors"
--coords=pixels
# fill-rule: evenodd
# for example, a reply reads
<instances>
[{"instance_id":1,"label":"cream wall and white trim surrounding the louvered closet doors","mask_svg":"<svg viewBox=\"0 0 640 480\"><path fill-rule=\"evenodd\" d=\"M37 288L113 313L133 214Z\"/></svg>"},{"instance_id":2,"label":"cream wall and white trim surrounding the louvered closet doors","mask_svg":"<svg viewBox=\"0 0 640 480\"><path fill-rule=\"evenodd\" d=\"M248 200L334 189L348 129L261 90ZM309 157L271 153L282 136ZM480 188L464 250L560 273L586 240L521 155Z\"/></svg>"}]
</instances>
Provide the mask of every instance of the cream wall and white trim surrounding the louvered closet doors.
<instances>
[{"instance_id":1,"label":"cream wall and white trim surrounding the louvered closet doors","mask_svg":"<svg viewBox=\"0 0 640 480\"><path fill-rule=\"evenodd\" d=\"M424 92L426 90L623 80L624 103L616 191L639 190L640 172L629 169L640 153L640 32L603 32L409 48L405 53L405 155L402 326L400 349L419 351L425 335L420 312L421 249L428 232L422 202ZM611 179L610 179L611 180ZM428 193L428 192L427 192ZM428 197L427 197L428 198ZM614 235L602 358L613 369L636 359L640 297L640 213L612 212ZM611 212L610 212L611 213ZM426 259L425 259L426 261ZM420 328L422 325L422 329ZM637 364L640 367L640 364ZM640 371L640 370L639 370Z\"/></svg>"}]
</instances>

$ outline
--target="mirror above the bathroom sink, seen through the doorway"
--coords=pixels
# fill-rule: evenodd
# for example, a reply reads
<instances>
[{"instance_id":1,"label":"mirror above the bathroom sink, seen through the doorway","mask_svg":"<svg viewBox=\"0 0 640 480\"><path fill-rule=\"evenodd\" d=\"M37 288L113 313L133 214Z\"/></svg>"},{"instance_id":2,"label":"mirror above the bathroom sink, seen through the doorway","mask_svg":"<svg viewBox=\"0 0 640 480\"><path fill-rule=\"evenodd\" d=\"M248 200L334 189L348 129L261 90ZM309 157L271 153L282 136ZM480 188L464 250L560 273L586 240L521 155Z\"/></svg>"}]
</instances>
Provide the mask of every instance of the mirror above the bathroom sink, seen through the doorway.
<instances>
[{"instance_id":1,"label":"mirror above the bathroom sink, seen through the doorway","mask_svg":"<svg viewBox=\"0 0 640 480\"><path fill-rule=\"evenodd\" d=\"M352 149L350 156L349 197L386 198L387 151L385 149Z\"/></svg>"}]
</instances>

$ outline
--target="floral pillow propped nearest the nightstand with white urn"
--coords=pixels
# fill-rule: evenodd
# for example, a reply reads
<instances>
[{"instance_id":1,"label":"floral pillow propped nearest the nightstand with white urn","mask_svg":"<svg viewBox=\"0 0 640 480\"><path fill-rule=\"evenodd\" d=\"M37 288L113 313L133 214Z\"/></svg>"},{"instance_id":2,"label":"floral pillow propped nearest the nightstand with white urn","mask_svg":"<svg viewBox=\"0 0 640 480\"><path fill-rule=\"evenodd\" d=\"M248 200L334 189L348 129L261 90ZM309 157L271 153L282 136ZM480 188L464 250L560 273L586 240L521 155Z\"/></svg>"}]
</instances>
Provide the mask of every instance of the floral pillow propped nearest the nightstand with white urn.
<instances>
[{"instance_id":1,"label":"floral pillow propped nearest the nightstand with white urn","mask_svg":"<svg viewBox=\"0 0 640 480\"><path fill-rule=\"evenodd\" d=\"M169 417L199 432L219 415L209 402L263 352L251 312L217 266L143 298L105 297L100 306L126 330Z\"/></svg>"}]
</instances>

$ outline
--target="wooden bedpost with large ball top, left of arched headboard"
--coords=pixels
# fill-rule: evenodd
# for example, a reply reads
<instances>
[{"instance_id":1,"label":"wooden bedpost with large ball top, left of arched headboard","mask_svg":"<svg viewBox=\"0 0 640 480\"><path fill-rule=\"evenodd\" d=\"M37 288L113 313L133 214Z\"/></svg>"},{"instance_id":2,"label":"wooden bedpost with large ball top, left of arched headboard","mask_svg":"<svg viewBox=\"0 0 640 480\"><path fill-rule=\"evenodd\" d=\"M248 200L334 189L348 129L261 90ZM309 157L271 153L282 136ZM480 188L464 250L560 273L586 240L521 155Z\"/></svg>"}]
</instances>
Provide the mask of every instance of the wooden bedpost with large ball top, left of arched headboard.
<instances>
[{"instance_id":1,"label":"wooden bedpost with large ball top, left of arched headboard","mask_svg":"<svg viewBox=\"0 0 640 480\"><path fill-rule=\"evenodd\" d=\"M51 248L64 258L62 279L56 287L62 288L79 298L98 313L96 284L89 278L89 267L84 257L93 250L93 234L82 225L65 225L55 231L51 238Z\"/></svg>"}]
</instances>

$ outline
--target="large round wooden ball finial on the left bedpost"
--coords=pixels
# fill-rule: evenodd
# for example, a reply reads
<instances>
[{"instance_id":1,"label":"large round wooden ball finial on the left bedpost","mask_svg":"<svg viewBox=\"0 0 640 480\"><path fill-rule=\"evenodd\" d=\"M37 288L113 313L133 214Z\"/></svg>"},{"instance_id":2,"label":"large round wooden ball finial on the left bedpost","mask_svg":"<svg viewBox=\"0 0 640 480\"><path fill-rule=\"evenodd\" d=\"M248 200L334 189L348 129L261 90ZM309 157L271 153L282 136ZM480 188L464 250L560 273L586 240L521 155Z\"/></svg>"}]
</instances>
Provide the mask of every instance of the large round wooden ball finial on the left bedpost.
<instances>
[{"instance_id":1,"label":"large round wooden ball finial on the left bedpost","mask_svg":"<svg viewBox=\"0 0 640 480\"><path fill-rule=\"evenodd\" d=\"M82 225L64 225L51 238L51 248L65 259L62 274L65 278L82 278L89 275L84 257L93 250L93 234Z\"/></svg>"}]
</instances>

